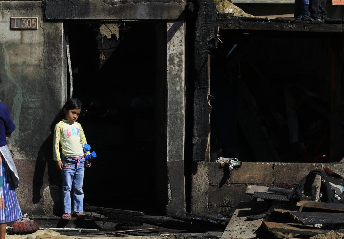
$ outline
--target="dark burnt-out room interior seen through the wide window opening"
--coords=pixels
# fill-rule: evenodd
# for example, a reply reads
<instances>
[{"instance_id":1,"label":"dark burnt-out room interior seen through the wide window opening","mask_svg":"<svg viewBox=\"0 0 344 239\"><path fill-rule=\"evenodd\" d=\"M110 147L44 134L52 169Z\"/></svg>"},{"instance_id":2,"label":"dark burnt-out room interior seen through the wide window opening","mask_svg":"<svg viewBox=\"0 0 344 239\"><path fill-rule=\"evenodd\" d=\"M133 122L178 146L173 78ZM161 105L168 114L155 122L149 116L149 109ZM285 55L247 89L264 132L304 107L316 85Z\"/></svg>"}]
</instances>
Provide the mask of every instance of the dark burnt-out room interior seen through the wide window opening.
<instances>
[{"instance_id":1,"label":"dark burnt-out room interior seen through the wide window opening","mask_svg":"<svg viewBox=\"0 0 344 239\"><path fill-rule=\"evenodd\" d=\"M219 34L211 52L212 160L340 161L341 35Z\"/></svg>"}]
</instances>

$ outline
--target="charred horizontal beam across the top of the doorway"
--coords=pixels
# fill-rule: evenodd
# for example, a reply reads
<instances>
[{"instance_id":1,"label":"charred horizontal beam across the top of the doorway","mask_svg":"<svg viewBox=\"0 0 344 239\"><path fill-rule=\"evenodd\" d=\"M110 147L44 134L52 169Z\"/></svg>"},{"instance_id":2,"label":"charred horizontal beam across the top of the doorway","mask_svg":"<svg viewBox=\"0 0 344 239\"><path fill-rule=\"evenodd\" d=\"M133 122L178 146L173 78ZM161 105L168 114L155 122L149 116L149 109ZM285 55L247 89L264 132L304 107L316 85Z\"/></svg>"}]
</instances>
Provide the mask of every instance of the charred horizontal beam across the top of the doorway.
<instances>
[{"instance_id":1,"label":"charred horizontal beam across the top of the doorway","mask_svg":"<svg viewBox=\"0 0 344 239\"><path fill-rule=\"evenodd\" d=\"M174 20L181 18L184 0L47 0L46 19Z\"/></svg>"}]
</instances>

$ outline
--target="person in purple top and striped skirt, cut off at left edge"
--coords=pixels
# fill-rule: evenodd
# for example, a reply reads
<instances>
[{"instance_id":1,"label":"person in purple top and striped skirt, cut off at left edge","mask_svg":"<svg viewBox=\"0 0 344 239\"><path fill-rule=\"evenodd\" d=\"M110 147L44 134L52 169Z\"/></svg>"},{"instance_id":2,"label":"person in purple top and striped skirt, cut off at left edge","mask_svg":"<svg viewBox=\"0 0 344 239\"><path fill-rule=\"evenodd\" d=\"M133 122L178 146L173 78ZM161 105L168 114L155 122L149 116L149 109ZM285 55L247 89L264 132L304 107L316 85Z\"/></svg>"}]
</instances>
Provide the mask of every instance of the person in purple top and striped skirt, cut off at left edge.
<instances>
[{"instance_id":1,"label":"person in purple top and striped skirt, cut off at left edge","mask_svg":"<svg viewBox=\"0 0 344 239\"><path fill-rule=\"evenodd\" d=\"M6 236L8 222L22 217L15 193L19 184L18 171L6 142L6 137L11 137L14 129L7 106L0 103L0 239Z\"/></svg>"}]
</instances>

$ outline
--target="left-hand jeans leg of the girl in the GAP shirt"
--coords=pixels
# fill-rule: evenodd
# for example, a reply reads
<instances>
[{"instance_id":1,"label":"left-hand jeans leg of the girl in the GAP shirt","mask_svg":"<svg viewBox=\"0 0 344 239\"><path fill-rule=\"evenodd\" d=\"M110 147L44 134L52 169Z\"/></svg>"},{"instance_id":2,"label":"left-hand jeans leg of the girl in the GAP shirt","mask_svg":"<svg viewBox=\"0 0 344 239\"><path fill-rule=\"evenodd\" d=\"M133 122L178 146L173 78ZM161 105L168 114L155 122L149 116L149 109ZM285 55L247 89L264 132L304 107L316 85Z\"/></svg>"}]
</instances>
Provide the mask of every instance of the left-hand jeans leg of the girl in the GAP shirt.
<instances>
[{"instance_id":1,"label":"left-hand jeans leg of the girl in the GAP shirt","mask_svg":"<svg viewBox=\"0 0 344 239\"><path fill-rule=\"evenodd\" d=\"M62 206L63 213L72 212L72 202L71 202L71 189L73 175L75 172L74 165L64 161L62 170Z\"/></svg>"}]
</instances>

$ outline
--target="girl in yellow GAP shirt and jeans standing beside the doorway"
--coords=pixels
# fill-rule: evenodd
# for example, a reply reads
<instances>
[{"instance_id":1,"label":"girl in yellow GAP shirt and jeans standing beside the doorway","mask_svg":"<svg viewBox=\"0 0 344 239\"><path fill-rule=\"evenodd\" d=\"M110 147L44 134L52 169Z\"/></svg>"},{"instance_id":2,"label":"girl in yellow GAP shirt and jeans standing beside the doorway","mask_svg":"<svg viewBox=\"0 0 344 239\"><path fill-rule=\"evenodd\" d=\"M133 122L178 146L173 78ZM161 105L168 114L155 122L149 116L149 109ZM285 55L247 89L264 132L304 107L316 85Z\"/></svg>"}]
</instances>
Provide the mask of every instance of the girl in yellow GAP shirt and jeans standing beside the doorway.
<instances>
[{"instance_id":1,"label":"girl in yellow GAP shirt and jeans standing beside the doorway","mask_svg":"<svg viewBox=\"0 0 344 239\"><path fill-rule=\"evenodd\" d=\"M54 160L56 167L62 171L62 219L72 218L71 190L73 190L73 206L76 218L83 218L84 214L84 145L86 138L83 128L76 120L81 112L81 102L78 99L69 99L63 106L65 117L54 128ZM59 144L61 143L62 157Z\"/></svg>"}]
</instances>

